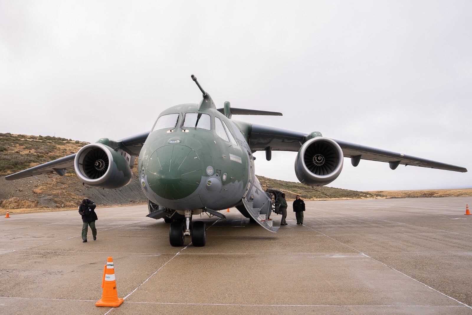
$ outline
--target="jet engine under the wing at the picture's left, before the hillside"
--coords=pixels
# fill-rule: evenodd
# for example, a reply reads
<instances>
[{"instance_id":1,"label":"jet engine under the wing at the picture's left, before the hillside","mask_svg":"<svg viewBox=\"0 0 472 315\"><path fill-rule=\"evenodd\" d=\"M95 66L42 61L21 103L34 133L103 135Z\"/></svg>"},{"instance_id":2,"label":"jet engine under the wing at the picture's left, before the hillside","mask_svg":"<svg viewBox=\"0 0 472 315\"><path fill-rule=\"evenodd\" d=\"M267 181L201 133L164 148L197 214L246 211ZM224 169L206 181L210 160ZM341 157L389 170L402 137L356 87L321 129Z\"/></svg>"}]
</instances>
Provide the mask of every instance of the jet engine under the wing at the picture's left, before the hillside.
<instances>
[{"instance_id":1,"label":"jet engine under the wing at the picture's left, before the hillside","mask_svg":"<svg viewBox=\"0 0 472 315\"><path fill-rule=\"evenodd\" d=\"M82 182L106 189L126 186L133 177L126 159L101 143L82 147L76 154L74 168Z\"/></svg>"}]
</instances>

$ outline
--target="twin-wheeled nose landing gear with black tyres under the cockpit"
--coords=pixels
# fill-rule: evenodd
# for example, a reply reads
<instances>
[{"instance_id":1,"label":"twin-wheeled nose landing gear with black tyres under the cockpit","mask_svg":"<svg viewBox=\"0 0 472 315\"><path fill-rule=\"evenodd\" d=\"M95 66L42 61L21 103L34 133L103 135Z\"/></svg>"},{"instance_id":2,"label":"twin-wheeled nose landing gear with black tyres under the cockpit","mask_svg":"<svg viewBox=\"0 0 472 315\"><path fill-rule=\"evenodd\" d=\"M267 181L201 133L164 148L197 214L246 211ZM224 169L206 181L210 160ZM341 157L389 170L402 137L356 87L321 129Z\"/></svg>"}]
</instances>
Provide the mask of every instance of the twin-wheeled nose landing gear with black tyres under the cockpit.
<instances>
[{"instance_id":1,"label":"twin-wheeled nose landing gear with black tyres under the cockpit","mask_svg":"<svg viewBox=\"0 0 472 315\"><path fill-rule=\"evenodd\" d=\"M174 221L170 224L169 242L174 247L184 245L185 236L192 237L192 243L196 247L205 246L206 232L203 221L195 221L192 224L192 211L185 211L185 221Z\"/></svg>"}]
</instances>

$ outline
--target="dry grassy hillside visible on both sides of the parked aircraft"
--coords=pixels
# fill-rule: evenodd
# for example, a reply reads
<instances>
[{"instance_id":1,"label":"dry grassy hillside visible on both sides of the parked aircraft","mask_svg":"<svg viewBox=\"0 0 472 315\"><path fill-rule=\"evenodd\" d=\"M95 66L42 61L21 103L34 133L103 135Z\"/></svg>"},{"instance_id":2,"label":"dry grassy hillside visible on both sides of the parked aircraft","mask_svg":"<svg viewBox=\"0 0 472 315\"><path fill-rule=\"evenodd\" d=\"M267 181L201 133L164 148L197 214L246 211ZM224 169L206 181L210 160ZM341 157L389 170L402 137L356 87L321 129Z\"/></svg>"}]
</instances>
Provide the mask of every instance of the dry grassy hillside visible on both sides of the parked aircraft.
<instances>
[{"instance_id":1,"label":"dry grassy hillside visible on both sides of the parked aircraft","mask_svg":"<svg viewBox=\"0 0 472 315\"><path fill-rule=\"evenodd\" d=\"M101 206L147 202L139 186L136 167L133 167L134 178L131 183L118 190L84 186L73 169L68 170L65 176L43 174L15 181L6 181L3 176L76 153L87 143L51 136L0 133L0 215L5 213L5 209L38 212L76 208L83 198L92 199ZM287 199L295 199L297 194L304 200L472 196L472 189L350 191L326 186L309 187L298 182L279 181L264 176L258 178L264 189L284 191Z\"/></svg>"}]
</instances>

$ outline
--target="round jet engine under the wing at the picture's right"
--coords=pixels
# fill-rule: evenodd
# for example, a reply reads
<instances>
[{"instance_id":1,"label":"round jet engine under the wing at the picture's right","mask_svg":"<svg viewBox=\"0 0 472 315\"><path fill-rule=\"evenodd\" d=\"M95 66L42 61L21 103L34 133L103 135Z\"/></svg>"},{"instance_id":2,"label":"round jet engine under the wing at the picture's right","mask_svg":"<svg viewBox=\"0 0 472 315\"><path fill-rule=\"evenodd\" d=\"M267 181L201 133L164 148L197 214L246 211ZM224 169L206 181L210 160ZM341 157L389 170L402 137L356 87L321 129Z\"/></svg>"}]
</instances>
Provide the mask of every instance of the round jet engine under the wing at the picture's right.
<instances>
[{"instance_id":1,"label":"round jet engine under the wing at the picture's right","mask_svg":"<svg viewBox=\"0 0 472 315\"><path fill-rule=\"evenodd\" d=\"M296 177L305 185L327 185L341 173L343 157L343 150L336 141L324 137L312 138L298 150Z\"/></svg>"}]
</instances>

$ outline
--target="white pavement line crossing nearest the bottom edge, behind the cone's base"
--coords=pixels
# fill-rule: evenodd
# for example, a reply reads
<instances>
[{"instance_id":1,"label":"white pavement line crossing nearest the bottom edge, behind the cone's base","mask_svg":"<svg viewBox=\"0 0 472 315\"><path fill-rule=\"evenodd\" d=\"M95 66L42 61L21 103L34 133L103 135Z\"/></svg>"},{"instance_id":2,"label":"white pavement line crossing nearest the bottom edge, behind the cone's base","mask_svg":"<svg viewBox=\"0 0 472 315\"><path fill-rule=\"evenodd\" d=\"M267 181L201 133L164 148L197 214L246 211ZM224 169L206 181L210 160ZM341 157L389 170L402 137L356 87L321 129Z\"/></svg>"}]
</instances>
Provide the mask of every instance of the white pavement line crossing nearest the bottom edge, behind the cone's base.
<instances>
[{"instance_id":1,"label":"white pavement line crossing nearest the bottom edge, behind the cone's base","mask_svg":"<svg viewBox=\"0 0 472 315\"><path fill-rule=\"evenodd\" d=\"M96 300L73 299L73 298L21 298L21 297L2 297L33 300L53 300L53 301L79 301L96 302ZM170 304L170 305L210 305L210 306L271 306L271 307L465 307L464 305L322 305L322 304L219 304L219 303L172 303L172 302L131 302L132 304Z\"/></svg>"}]
</instances>

